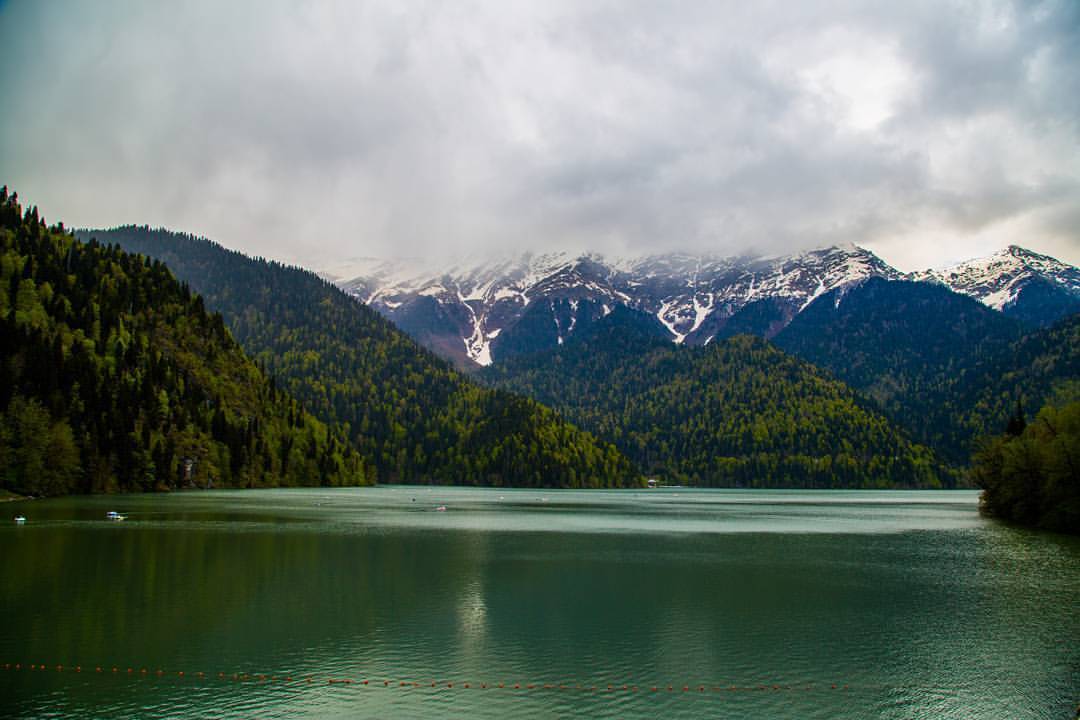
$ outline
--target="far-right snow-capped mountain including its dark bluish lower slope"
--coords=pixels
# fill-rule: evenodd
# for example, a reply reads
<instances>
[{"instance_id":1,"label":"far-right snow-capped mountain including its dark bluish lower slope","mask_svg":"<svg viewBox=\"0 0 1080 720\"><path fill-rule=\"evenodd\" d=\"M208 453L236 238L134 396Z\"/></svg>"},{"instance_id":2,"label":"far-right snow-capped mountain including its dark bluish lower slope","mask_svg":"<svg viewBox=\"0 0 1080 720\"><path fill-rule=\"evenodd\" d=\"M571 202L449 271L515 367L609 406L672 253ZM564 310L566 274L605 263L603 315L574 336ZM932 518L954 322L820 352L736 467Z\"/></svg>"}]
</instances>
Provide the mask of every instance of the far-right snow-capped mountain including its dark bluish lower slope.
<instances>
[{"instance_id":1,"label":"far-right snow-capped mountain including its dark bluish lower slope","mask_svg":"<svg viewBox=\"0 0 1080 720\"><path fill-rule=\"evenodd\" d=\"M1047 255L1010 245L994 255L942 270L913 273L1035 325L1080 311L1080 270Z\"/></svg>"}]
</instances>

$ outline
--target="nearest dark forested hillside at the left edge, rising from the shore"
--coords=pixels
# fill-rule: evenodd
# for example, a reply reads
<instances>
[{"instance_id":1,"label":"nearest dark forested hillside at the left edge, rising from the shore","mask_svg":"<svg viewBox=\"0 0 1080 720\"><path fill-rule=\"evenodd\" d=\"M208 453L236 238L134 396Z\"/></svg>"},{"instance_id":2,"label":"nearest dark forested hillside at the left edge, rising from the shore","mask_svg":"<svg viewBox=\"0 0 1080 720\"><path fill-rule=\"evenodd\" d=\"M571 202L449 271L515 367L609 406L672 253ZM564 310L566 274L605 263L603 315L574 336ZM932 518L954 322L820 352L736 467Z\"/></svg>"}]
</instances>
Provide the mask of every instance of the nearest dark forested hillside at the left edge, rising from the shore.
<instances>
[{"instance_id":1,"label":"nearest dark forested hillside at the left edge, rising from the shore","mask_svg":"<svg viewBox=\"0 0 1080 720\"><path fill-rule=\"evenodd\" d=\"M348 440L161 262L81 243L0 190L0 488L357 485Z\"/></svg>"}]
</instances>

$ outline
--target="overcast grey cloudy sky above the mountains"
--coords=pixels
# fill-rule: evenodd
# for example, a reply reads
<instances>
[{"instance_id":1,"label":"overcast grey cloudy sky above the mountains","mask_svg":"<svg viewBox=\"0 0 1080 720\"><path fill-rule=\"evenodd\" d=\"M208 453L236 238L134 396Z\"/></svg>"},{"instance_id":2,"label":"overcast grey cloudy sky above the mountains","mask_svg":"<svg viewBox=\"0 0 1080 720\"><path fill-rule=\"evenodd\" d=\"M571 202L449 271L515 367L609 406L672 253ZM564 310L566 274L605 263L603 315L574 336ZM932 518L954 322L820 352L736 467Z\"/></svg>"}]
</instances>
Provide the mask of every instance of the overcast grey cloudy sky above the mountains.
<instances>
[{"instance_id":1,"label":"overcast grey cloudy sky above the mountains","mask_svg":"<svg viewBox=\"0 0 1080 720\"><path fill-rule=\"evenodd\" d=\"M1080 263L1080 2L0 0L0 182L326 267Z\"/></svg>"}]
</instances>

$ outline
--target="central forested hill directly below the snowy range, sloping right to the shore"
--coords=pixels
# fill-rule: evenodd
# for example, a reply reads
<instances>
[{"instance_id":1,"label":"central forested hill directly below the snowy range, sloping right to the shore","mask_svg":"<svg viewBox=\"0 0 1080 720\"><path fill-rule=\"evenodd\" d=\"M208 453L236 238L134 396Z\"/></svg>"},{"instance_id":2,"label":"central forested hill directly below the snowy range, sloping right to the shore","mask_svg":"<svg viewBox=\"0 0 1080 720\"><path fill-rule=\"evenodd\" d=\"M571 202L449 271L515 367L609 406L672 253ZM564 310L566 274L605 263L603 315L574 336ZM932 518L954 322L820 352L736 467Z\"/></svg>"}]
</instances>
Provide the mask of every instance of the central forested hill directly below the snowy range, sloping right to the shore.
<instances>
[{"instance_id":1,"label":"central forested hill directly below the snowy range, sloping right to the shore","mask_svg":"<svg viewBox=\"0 0 1080 720\"><path fill-rule=\"evenodd\" d=\"M562 348L481 377L611 438L665 481L746 487L940 487L954 476L845 384L764 340L674 345L615 310Z\"/></svg>"}]
</instances>

